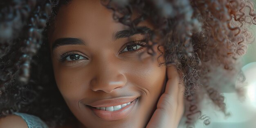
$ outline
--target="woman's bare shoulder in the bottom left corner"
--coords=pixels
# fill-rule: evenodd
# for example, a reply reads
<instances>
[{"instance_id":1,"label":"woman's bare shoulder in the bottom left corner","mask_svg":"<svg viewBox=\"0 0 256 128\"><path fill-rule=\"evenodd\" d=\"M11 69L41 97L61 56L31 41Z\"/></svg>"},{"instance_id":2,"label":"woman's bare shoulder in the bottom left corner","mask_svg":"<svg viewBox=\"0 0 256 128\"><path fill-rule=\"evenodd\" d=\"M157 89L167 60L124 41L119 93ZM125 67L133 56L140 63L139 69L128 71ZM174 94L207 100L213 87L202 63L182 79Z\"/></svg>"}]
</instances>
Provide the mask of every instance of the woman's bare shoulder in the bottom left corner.
<instances>
[{"instance_id":1,"label":"woman's bare shoulder in the bottom left corner","mask_svg":"<svg viewBox=\"0 0 256 128\"><path fill-rule=\"evenodd\" d=\"M8 115L7 117L0 118L0 128L28 128L28 126L22 117Z\"/></svg>"}]
</instances>

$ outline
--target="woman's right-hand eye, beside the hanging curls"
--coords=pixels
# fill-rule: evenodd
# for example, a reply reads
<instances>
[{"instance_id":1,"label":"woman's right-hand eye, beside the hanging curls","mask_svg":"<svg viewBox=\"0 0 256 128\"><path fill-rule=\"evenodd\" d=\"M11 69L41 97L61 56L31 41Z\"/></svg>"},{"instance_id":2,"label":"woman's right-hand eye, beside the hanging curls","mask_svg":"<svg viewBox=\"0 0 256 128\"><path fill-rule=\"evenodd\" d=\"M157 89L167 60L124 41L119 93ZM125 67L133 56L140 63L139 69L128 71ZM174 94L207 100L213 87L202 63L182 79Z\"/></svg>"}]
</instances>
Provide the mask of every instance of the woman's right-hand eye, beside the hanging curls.
<instances>
[{"instance_id":1,"label":"woman's right-hand eye, beside the hanging curls","mask_svg":"<svg viewBox=\"0 0 256 128\"><path fill-rule=\"evenodd\" d=\"M123 52L138 51L141 47L147 47L145 40L132 41L126 44L126 47L120 52L120 54Z\"/></svg>"}]
</instances>

